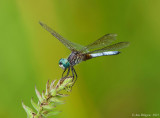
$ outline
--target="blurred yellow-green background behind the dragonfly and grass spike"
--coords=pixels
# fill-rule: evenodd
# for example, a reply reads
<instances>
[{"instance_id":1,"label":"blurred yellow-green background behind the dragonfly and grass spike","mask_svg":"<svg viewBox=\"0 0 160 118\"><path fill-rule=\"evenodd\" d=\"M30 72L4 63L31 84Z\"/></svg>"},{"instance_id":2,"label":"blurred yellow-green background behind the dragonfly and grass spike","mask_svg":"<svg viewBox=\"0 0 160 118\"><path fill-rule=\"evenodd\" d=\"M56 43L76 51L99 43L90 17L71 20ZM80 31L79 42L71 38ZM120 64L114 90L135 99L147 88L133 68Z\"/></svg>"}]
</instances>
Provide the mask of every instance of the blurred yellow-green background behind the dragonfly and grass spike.
<instances>
[{"instance_id":1,"label":"blurred yellow-green background behind the dragonfly and grass spike","mask_svg":"<svg viewBox=\"0 0 160 118\"><path fill-rule=\"evenodd\" d=\"M78 80L55 118L160 115L159 12L159 0L1 0L0 117L27 117L22 100L32 107L35 85L42 91L61 77L58 61L70 51L39 21L81 45L107 33L131 43L120 55L77 65Z\"/></svg>"}]
</instances>

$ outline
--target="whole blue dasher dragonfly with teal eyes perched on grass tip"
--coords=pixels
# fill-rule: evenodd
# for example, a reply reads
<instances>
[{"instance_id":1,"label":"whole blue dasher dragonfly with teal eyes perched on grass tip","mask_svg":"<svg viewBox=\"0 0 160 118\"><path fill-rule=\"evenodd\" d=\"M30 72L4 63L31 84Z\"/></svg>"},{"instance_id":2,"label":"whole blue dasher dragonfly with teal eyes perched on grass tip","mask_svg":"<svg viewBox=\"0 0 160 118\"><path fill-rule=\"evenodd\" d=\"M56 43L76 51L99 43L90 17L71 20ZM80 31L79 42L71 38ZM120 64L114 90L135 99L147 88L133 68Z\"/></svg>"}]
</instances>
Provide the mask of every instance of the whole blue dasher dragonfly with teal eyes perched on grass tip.
<instances>
[{"instance_id":1,"label":"whole blue dasher dragonfly with teal eyes perched on grass tip","mask_svg":"<svg viewBox=\"0 0 160 118\"><path fill-rule=\"evenodd\" d=\"M73 78L76 76L74 82L77 80L77 73L74 69L74 66L76 64L95 57L117 55L120 52L114 50L122 49L129 45L129 42L119 42L111 45L111 43L116 40L117 35L106 34L87 46L81 46L63 38L46 24L42 22L39 23L44 29L50 32L55 38L57 38L71 51L71 54L68 56L67 59L61 58L59 60L59 66L64 70L62 73L62 77L66 70L68 71L65 77L69 75L70 70L72 71Z\"/></svg>"}]
</instances>

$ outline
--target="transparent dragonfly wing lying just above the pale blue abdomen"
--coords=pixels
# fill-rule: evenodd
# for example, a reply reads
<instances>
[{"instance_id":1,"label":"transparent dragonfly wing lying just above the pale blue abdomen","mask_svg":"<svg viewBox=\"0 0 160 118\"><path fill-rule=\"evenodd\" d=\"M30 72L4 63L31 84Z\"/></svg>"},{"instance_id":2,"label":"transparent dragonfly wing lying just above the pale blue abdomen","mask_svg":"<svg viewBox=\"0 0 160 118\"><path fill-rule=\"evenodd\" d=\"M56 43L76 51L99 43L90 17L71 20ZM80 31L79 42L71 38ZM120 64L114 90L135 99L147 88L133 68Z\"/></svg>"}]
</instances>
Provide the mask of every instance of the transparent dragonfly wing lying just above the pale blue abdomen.
<instances>
[{"instance_id":1,"label":"transparent dragonfly wing lying just above the pale blue abdomen","mask_svg":"<svg viewBox=\"0 0 160 118\"><path fill-rule=\"evenodd\" d=\"M113 45L109 45L107 47L104 47L102 49L99 49L99 50L95 50L95 51L92 51L92 52L88 52L88 54L91 54L91 53L101 53L101 52L106 52L106 51L113 51L113 50L118 50L118 49L122 49L122 48L125 48L129 46L129 42L119 42L119 43L116 43L116 44L113 44Z\"/></svg>"}]
</instances>

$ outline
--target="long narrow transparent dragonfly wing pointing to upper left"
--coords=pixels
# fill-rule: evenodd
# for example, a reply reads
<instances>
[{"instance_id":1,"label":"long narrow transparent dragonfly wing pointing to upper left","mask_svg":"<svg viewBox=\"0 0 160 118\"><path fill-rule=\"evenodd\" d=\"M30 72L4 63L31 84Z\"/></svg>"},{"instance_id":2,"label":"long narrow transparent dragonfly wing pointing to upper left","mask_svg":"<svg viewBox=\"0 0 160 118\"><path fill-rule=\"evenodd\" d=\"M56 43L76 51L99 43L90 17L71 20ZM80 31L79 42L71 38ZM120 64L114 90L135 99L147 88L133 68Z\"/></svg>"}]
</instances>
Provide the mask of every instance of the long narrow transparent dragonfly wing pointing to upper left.
<instances>
[{"instance_id":1,"label":"long narrow transparent dragonfly wing pointing to upper left","mask_svg":"<svg viewBox=\"0 0 160 118\"><path fill-rule=\"evenodd\" d=\"M46 29L48 32L50 32L55 38L57 38L61 43L63 43L68 49L71 51L79 51L80 49L84 48L84 46L81 46L79 44L73 43L65 38L63 38L60 34L55 32L53 29L51 29L46 24L39 22L39 24Z\"/></svg>"}]
</instances>

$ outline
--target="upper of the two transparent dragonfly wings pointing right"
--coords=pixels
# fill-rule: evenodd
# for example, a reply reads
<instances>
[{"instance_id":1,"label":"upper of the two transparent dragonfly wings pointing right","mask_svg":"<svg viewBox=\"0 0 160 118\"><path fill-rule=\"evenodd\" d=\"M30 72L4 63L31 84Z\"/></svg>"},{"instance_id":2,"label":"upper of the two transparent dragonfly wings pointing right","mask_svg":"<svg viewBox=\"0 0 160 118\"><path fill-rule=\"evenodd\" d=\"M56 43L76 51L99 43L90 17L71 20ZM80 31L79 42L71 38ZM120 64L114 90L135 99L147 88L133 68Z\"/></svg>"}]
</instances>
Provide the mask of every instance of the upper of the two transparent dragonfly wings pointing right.
<instances>
[{"instance_id":1,"label":"upper of the two transparent dragonfly wings pointing right","mask_svg":"<svg viewBox=\"0 0 160 118\"><path fill-rule=\"evenodd\" d=\"M95 42L85 46L80 51L81 52L89 52L91 49L103 48L110 45L114 40L116 40L117 34L106 34L103 37L99 38Z\"/></svg>"}]
</instances>

